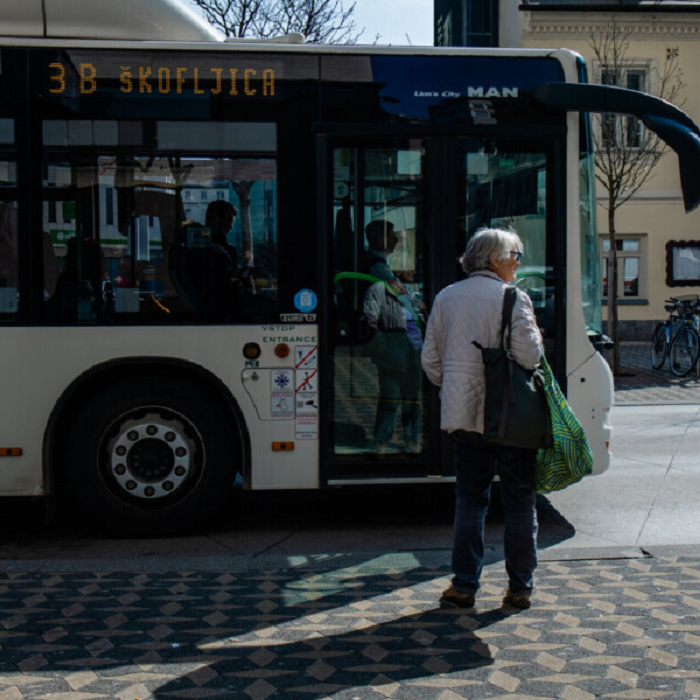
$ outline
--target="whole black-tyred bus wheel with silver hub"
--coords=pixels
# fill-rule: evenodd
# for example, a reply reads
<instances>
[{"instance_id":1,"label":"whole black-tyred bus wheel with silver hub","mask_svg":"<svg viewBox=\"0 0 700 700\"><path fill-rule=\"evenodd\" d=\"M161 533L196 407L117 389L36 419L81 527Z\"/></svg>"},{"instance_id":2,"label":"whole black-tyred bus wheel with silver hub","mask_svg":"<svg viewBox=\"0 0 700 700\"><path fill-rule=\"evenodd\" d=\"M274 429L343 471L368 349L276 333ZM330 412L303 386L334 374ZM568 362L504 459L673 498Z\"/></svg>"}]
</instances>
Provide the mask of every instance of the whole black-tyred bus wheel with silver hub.
<instances>
[{"instance_id":1,"label":"whole black-tyred bus wheel with silver hub","mask_svg":"<svg viewBox=\"0 0 700 700\"><path fill-rule=\"evenodd\" d=\"M191 382L126 379L77 412L69 483L88 516L115 534L190 531L231 496L234 432L218 402Z\"/></svg>"}]
</instances>

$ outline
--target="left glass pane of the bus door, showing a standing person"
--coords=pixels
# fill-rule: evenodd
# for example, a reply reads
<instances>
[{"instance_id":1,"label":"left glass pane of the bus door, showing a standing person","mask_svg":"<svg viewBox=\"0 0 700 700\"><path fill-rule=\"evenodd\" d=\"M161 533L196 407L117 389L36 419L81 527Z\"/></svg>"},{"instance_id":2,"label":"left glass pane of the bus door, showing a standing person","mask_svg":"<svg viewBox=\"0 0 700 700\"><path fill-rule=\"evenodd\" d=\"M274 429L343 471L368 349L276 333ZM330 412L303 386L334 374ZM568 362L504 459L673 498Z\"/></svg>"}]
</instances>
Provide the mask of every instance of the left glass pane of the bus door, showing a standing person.
<instances>
[{"instance_id":1,"label":"left glass pane of the bus door, showing a standing person","mask_svg":"<svg viewBox=\"0 0 700 700\"><path fill-rule=\"evenodd\" d=\"M330 159L328 478L425 475L424 144L337 146Z\"/></svg>"}]
</instances>

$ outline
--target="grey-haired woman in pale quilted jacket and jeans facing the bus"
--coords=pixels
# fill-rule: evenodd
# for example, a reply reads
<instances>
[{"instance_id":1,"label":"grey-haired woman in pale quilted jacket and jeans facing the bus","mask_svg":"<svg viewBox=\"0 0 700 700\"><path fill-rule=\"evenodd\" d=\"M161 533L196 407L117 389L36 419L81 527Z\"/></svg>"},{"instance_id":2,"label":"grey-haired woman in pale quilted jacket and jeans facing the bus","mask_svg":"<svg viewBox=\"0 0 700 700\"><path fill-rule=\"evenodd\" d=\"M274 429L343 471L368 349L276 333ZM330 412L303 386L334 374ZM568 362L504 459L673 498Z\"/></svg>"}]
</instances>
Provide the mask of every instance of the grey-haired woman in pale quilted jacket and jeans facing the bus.
<instances>
[{"instance_id":1,"label":"grey-haired woman in pale quilted jacket and jeans facing the bus","mask_svg":"<svg viewBox=\"0 0 700 700\"><path fill-rule=\"evenodd\" d=\"M505 520L504 549L508 592L503 599L529 608L537 566L535 450L502 447L482 439L484 365L472 345L502 347L501 312L509 283L515 281L523 244L513 231L482 229L461 258L468 278L443 289L435 299L423 346L428 379L441 388L441 428L455 447L456 510L452 585L442 600L470 608L484 561L484 521L491 482L498 469ZM510 347L515 360L533 369L542 354L542 337L530 298L518 292Z\"/></svg>"}]
</instances>

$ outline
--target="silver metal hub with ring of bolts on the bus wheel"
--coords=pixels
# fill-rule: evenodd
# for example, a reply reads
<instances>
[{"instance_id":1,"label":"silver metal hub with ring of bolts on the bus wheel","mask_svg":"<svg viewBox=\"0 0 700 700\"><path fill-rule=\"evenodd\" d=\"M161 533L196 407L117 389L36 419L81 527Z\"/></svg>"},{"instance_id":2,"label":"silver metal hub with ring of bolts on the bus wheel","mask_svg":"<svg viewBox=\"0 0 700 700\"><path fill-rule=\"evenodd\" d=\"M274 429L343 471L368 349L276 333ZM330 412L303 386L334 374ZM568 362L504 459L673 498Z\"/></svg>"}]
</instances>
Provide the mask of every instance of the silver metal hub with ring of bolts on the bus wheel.
<instances>
[{"instance_id":1,"label":"silver metal hub with ring of bolts on the bus wheel","mask_svg":"<svg viewBox=\"0 0 700 700\"><path fill-rule=\"evenodd\" d=\"M182 417L148 412L126 417L110 440L108 469L130 496L157 500L171 496L197 471L201 440Z\"/></svg>"}]
</instances>

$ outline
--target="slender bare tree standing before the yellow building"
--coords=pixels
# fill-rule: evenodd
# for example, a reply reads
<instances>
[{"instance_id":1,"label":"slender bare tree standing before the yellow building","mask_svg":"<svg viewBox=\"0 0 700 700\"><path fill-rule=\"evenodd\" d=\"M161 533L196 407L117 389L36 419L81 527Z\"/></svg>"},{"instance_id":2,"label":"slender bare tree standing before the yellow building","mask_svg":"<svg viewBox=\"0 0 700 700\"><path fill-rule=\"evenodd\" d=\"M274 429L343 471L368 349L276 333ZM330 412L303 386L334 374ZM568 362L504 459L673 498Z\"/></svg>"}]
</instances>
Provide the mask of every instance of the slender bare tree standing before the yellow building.
<instances>
[{"instance_id":1,"label":"slender bare tree standing before the yellow building","mask_svg":"<svg viewBox=\"0 0 700 700\"><path fill-rule=\"evenodd\" d=\"M627 87L644 92L652 90L662 99L678 102L685 83L677 56L667 54L660 64L630 56L632 29L612 20L590 38L595 56L596 76L600 83ZM654 168L668 150L659 137L645 129L632 116L600 114L595 117L594 147L596 179L607 193L608 240L608 333L613 343L613 374L619 376L620 347L617 312L619 274L615 214L654 176Z\"/></svg>"}]
</instances>

